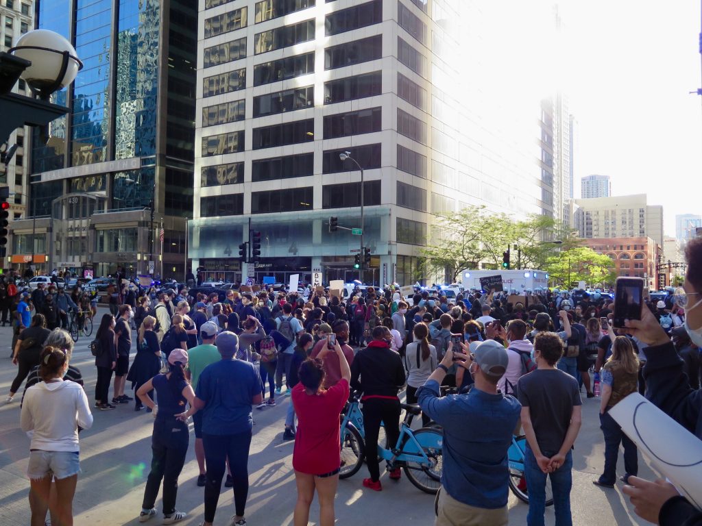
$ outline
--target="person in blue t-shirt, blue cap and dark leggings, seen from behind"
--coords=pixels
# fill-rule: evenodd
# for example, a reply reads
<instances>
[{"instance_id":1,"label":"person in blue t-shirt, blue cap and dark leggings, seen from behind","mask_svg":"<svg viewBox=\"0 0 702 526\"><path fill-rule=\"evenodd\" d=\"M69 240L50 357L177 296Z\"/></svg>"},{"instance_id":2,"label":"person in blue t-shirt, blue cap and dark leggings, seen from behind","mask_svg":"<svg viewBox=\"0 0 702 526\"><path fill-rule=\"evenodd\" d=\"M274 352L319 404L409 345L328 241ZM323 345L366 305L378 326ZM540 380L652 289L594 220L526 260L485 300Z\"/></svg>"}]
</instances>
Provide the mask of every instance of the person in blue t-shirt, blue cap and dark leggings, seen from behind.
<instances>
[{"instance_id":1,"label":"person in blue t-shirt, blue cap and dark leggings, seen from behind","mask_svg":"<svg viewBox=\"0 0 702 526\"><path fill-rule=\"evenodd\" d=\"M244 511L249 496L249 446L251 445L251 405L263 400L258 368L237 360L239 337L220 332L215 340L222 359L211 363L197 380L194 410L202 410L202 444L207 466L205 482L205 521L211 526L225 473L225 459L232 471L234 525L246 524Z\"/></svg>"}]
</instances>

